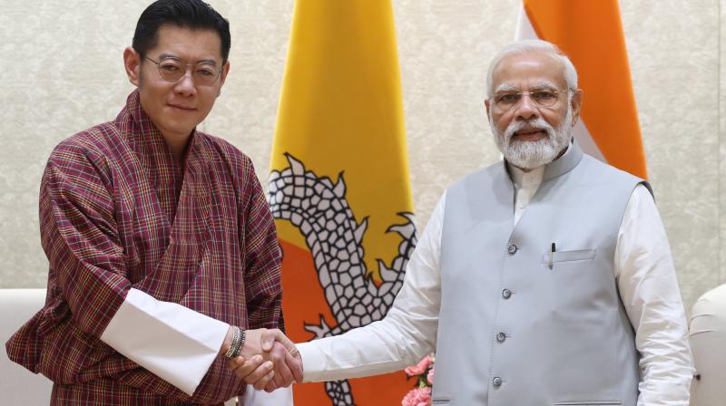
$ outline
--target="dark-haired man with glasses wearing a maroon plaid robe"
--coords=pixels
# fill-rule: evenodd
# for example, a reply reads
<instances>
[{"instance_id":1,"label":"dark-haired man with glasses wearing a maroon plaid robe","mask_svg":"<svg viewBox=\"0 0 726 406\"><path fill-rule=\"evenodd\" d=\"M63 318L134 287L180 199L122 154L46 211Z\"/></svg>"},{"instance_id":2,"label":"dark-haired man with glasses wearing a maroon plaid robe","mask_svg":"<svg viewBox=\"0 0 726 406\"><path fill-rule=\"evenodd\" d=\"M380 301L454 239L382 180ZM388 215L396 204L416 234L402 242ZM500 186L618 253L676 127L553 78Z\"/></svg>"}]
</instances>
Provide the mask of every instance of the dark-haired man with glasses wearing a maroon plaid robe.
<instances>
[{"instance_id":1,"label":"dark-haired man with glasses wearing a maroon plaid robe","mask_svg":"<svg viewBox=\"0 0 726 406\"><path fill-rule=\"evenodd\" d=\"M227 366L238 355L261 364L255 380L301 379L277 330L280 247L260 182L240 150L196 130L230 44L210 5L153 3L123 52L137 87L123 110L48 160L47 299L6 346L54 381L54 405L220 404L246 388ZM264 351L266 331L292 353Z\"/></svg>"}]
</instances>

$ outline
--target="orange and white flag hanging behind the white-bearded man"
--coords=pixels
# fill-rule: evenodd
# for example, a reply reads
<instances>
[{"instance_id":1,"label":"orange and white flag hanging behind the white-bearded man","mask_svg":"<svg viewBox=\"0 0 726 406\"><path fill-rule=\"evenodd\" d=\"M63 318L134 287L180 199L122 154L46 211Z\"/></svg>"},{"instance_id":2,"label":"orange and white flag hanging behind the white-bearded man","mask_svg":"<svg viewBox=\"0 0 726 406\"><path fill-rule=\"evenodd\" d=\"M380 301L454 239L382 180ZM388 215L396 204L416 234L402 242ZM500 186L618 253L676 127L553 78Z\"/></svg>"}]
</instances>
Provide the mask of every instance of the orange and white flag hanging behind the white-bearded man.
<instances>
[{"instance_id":1,"label":"orange and white flag hanging behind the white-bearded man","mask_svg":"<svg viewBox=\"0 0 726 406\"><path fill-rule=\"evenodd\" d=\"M524 0L516 36L554 43L573 61L584 91L583 120L574 128L583 150L645 179L617 0Z\"/></svg>"}]
</instances>

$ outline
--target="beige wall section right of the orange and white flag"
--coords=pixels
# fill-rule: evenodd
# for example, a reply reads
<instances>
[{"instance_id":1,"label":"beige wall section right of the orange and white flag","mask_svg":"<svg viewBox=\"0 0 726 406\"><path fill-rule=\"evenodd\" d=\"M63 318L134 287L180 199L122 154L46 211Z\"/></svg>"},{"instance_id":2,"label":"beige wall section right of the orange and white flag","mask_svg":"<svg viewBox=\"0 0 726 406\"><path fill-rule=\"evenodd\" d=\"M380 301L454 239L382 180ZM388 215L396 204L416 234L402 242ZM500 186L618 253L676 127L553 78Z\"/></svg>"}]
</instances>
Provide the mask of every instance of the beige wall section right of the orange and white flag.
<instances>
[{"instance_id":1,"label":"beige wall section right of the orange and white flag","mask_svg":"<svg viewBox=\"0 0 726 406\"><path fill-rule=\"evenodd\" d=\"M649 179L690 309L719 274L719 5L622 1Z\"/></svg>"}]
</instances>

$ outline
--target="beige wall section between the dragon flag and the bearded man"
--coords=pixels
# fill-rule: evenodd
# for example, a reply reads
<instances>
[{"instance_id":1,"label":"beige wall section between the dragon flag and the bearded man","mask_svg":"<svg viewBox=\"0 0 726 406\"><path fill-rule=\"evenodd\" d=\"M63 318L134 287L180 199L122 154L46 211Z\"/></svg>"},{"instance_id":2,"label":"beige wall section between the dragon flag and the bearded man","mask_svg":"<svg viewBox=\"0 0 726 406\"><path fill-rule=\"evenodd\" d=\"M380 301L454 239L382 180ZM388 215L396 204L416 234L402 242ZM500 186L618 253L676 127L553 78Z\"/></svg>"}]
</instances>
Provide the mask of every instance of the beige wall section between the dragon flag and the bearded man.
<instances>
[{"instance_id":1,"label":"beige wall section between the dragon flag and the bearded man","mask_svg":"<svg viewBox=\"0 0 726 406\"><path fill-rule=\"evenodd\" d=\"M419 229L448 185L499 159L484 96L489 60L515 37L515 0L394 2Z\"/></svg>"}]
</instances>

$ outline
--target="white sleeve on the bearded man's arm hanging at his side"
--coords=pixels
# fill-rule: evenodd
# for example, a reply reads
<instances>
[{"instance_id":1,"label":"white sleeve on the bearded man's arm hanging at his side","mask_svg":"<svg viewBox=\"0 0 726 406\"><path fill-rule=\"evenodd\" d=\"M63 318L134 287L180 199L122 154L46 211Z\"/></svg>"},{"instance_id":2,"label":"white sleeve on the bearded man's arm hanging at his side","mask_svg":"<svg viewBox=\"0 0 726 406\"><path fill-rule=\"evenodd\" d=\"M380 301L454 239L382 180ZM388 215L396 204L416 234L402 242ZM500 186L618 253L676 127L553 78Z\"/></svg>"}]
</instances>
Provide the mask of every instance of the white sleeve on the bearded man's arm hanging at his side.
<instances>
[{"instance_id":1,"label":"white sleeve on the bearded man's arm hanging at his side","mask_svg":"<svg viewBox=\"0 0 726 406\"><path fill-rule=\"evenodd\" d=\"M615 277L641 354L638 406L687 406L693 373L688 324L668 237L643 185L625 208Z\"/></svg>"}]
</instances>

